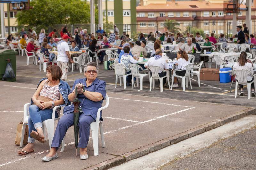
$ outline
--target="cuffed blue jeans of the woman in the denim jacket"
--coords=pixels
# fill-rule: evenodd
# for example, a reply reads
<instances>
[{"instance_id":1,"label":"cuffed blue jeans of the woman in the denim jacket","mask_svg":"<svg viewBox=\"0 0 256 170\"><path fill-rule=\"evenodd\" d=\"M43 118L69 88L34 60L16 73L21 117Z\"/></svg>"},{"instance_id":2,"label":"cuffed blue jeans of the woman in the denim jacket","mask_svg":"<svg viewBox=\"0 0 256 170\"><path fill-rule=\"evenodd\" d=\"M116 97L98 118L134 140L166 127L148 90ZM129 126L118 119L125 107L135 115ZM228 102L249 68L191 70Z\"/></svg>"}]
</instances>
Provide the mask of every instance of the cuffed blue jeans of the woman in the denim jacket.
<instances>
[{"instance_id":1,"label":"cuffed blue jeans of the woman in the denim jacket","mask_svg":"<svg viewBox=\"0 0 256 170\"><path fill-rule=\"evenodd\" d=\"M29 117L28 117L28 142L34 143L35 139L30 137L32 130L36 131L36 128L42 128L42 122L47 119L52 119L52 109L41 110L36 105L29 106ZM58 113L55 112L55 118L59 117Z\"/></svg>"}]
</instances>

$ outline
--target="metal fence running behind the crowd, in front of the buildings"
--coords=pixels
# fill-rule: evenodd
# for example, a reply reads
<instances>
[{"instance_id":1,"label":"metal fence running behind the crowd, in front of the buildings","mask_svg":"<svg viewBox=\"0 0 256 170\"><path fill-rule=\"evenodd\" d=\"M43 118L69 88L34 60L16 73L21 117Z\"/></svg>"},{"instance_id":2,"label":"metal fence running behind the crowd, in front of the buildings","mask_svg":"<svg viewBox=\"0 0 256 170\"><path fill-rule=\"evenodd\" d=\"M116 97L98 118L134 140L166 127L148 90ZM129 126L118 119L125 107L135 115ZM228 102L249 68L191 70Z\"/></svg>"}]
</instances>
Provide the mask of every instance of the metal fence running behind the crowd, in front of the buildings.
<instances>
[{"instance_id":1,"label":"metal fence running behind the crowd, in front of the buildings","mask_svg":"<svg viewBox=\"0 0 256 170\"><path fill-rule=\"evenodd\" d=\"M245 23L244 20L239 20L238 25L242 25ZM60 31L61 28L67 26L67 29L69 33L72 35L74 34L74 30L76 28L82 28L87 29L88 33L91 32L91 26L90 24L58 24L54 26L46 26L44 29L47 33L50 33L53 31L53 29L57 30L57 36L60 37ZM122 34L123 31L126 32L126 34L130 35L130 38L136 39L138 34L144 33L145 35L148 35L150 32L156 32L160 31L161 33L165 32L172 32L172 33L183 33L184 35L186 33L190 34L196 34L199 32L203 37L205 37L205 34L211 34L214 33L215 35L219 36L220 33L225 34L226 38L232 36L232 20L230 21L184 21L179 22L176 21L175 24L167 24L167 23L155 23L155 22L140 22L138 24L116 24L117 28L119 28L120 34ZM40 28L36 27L30 27L30 26L18 26L18 30L20 31L21 28L24 27L25 30L28 30L28 28L33 28L36 30L37 33L40 33ZM103 25L104 30L106 33L113 33L114 25L113 24L104 24ZM252 33L255 33L256 29L256 20L252 21ZM98 25L95 25L95 30L98 30Z\"/></svg>"}]
</instances>

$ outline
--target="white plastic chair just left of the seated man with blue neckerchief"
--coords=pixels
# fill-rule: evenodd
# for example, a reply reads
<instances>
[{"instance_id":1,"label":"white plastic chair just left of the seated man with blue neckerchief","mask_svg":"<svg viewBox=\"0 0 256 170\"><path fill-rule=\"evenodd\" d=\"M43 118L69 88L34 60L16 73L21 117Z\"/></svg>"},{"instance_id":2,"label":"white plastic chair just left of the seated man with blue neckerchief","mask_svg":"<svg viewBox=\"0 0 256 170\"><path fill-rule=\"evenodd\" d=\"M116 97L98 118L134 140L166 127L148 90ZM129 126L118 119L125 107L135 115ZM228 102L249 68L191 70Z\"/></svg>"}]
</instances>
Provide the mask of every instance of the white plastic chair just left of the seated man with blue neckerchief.
<instances>
[{"instance_id":1,"label":"white plastic chair just left of the seated man with blue neckerchief","mask_svg":"<svg viewBox=\"0 0 256 170\"><path fill-rule=\"evenodd\" d=\"M143 78L145 76L148 76L148 74L141 74L139 72L139 69L141 69L142 71L147 71L147 69L142 69L141 66L137 65L137 64L130 64L129 65L129 69L131 70L132 73L132 89L133 89L133 85L134 85L134 77L136 78L136 83L137 83L137 87L139 87L139 81L138 78L140 79L140 90L143 89ZM135 85L134 85L135 86Z\"/></svg>"}]
</instances>

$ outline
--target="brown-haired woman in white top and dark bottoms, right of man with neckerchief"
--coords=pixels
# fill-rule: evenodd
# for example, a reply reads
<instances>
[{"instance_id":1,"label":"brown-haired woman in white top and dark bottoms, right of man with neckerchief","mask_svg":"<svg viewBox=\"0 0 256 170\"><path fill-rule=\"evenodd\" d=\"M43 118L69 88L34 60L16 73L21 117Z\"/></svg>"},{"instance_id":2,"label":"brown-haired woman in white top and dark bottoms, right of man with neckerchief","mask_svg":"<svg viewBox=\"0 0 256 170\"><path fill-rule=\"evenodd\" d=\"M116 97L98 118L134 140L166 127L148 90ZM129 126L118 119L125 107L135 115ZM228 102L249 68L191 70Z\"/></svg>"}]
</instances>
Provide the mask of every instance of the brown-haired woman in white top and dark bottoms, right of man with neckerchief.
<instances>
[{"instance_id":1,"label":"brown-haired woman in white top and dark bottoms, right of man with neckerchief","mask_svg":"<svg viewBox=\"0 0 256 170\"><path fill-rule=\"evenodd\" d=\"M190 64L190 62L188 61L188 54L186 53L186 51L178 51L177 52L177 69L182 70L182 71L177 71L176 75L178 76L185 76L186 74L186 68L185 66ZM178 78L174 77L174 85L172 87L179 87L178 85Z\"/></svg>"}]
</instances>

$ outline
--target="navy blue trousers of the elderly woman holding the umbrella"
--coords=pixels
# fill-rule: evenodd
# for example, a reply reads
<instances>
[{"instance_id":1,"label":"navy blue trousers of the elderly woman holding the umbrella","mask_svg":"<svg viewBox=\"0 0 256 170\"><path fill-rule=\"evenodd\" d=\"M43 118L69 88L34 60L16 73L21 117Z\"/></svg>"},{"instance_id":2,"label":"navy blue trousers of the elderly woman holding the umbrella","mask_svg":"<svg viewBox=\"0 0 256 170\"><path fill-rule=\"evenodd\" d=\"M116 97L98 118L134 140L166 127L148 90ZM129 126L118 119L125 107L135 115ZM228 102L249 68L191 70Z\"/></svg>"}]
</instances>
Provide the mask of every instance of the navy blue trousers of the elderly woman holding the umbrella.
<instances>
[{"instance_id":1,"label":"navy blue trousers of the elderly woman holding the umbrella","mask_svg":"<svg viewBox=\"0 0 256 170\"><path fill-rule=\"evenodd\" d=\"M82 113L82 112L79 112ZM90 116L90 115L84 115L83 113L79 117L79 142L78 142L78 147L79 148L86 148L89 137L90 137L90 125L92 122L95 122L95 119ZM52 140L52 146L51 147L56 147L57 150L60 147L60 144L63 140L63 138L66 135L66 132L69 127L71 127L74 124L74 113L67 113L63 115L56 127L54 137Z\"/></svg>"}]
</instances>

